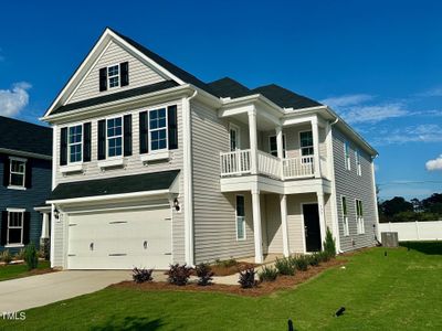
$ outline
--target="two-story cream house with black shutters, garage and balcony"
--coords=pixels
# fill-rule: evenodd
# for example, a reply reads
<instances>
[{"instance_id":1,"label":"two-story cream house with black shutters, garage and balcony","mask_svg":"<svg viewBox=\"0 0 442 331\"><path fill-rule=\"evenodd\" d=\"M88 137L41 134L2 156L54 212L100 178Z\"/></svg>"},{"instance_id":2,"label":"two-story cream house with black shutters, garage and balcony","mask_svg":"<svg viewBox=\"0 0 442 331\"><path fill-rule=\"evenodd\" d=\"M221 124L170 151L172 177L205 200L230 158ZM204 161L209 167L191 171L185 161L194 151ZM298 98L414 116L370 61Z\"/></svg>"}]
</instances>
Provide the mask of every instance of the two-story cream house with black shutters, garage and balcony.
<instances>
[{"instance_id":1,"label":"two-story cream house with black shutters, garage and balcony","mask_svg":"<svg viewBox=\"0 0 442 331\"><path fill-rule=\"evenodd\" d=\"M203 83L106 29L43 117L53 127L52 266L194 265L346 252L377 233L377 152L277 85Z\"/></svg>"}]
</instances>

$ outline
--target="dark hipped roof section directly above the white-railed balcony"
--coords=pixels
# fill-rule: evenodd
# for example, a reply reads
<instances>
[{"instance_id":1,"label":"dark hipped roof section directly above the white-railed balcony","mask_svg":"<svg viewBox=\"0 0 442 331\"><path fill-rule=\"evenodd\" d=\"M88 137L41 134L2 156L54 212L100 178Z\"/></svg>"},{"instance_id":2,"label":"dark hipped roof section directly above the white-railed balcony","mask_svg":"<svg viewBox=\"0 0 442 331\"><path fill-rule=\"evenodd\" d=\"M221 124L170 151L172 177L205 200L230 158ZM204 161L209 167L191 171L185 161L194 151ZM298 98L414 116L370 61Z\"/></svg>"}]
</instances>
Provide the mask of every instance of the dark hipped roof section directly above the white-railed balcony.
<instances>
[{"instance_id":1,"label":"dark hipped roof section directly above the white-railed balcony","mask_svg":"<svg viewBox=\"0 0 442 331\"><path fill-rule=\"evenodd\" d=\"M299 109L299 108L323 106L318 102L298 95L276 84L260 86L252 89L252 92L262 94L267 99L270 99L271 102L275 103L276 105L283 108Z\"/></svg>"}]
</instances>

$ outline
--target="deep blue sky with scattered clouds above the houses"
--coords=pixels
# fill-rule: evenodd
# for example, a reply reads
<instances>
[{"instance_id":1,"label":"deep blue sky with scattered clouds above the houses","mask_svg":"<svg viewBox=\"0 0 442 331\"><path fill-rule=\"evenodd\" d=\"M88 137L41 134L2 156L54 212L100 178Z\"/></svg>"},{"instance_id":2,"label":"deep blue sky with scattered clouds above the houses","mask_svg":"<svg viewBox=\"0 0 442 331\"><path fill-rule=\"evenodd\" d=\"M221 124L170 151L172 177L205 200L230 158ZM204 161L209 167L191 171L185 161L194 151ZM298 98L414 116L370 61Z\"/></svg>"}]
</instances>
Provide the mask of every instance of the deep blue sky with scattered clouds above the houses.
<instances>
[{"instance_id":1,"label":"deep blue sky with scattered clouds above the houses","mask_svg":"<svg viewBox=\"0 0 442 331\"><path fill-rule=\"evenodd\" d=\"M379 151L382 199L442 191L441 1L62 3L2 3L1 115L38 121L108 25L202 81L326 102Z\"/></svg>"}]
</instances>

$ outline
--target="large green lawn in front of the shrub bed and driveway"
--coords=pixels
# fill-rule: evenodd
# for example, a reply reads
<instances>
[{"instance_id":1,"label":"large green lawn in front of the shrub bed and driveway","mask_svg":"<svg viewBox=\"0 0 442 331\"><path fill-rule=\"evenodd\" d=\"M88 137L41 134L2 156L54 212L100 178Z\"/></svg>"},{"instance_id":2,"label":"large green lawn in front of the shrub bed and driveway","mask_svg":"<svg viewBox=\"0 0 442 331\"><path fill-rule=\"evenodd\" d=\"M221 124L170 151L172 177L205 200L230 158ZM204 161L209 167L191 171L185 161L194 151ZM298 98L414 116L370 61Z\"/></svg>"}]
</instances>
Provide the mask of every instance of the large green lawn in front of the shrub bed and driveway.
<instances>
[{"instance_id":1,"label":"large green lawn in front of the shrub bed and driveway","mask_svg":"<svg viewBox=\"0 0 442 331\"><path fill-rule=\"evenodd\" d=\"M266 297L114 288L0 319L0 329L287 330L291 318L296 330L442 330L442 244L410 247L358 253L345 269Z\"/></svg>"}]
</instances>

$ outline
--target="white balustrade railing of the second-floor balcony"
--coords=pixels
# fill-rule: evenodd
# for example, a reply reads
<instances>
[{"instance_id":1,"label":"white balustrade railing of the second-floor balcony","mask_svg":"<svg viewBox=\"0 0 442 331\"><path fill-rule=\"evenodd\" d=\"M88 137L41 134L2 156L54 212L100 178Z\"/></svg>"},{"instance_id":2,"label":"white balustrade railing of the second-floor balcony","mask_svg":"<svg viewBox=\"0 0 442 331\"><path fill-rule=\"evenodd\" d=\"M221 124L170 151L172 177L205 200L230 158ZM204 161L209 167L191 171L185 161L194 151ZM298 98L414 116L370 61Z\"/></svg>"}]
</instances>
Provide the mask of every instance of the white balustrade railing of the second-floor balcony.
<instances>
[{"instance_id":1,"label":"white balustrade railing of the second-floor balcony","mask_svg":"<svg viewBox=\"0 0 442 331\"><path fill-rule=\"evenodd\" d=\"M235 150L220 154L221 177L235 177L252 173L251 151ZM313 156L280 159L270 153L257 151L259 174L278 180L312 178L315 175L315 159Z\"/></svg>"}]
</instances>

